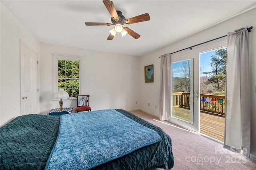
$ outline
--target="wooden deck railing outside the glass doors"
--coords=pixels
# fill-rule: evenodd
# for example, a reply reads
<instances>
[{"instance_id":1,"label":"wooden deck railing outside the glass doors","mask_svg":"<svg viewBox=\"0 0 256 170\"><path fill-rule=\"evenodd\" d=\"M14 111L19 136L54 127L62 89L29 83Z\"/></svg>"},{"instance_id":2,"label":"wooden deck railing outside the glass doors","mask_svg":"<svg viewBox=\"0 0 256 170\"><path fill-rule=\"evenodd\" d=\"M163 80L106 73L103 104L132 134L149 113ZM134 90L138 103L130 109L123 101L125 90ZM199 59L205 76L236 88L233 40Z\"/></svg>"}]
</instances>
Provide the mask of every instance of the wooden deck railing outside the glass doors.
<instances>
[{"instance_id":1,"label":"wooden deck railing outside the glass doors","mask_svg":"<svg viewBox=\"0 0 256 170\"><path fill-rule=\"evenodd\" d=\"M172 107L190 107L190 93L172 93ZM225 96L200 94L200 110L225 115Z\"/></svg>"}]
</instances>

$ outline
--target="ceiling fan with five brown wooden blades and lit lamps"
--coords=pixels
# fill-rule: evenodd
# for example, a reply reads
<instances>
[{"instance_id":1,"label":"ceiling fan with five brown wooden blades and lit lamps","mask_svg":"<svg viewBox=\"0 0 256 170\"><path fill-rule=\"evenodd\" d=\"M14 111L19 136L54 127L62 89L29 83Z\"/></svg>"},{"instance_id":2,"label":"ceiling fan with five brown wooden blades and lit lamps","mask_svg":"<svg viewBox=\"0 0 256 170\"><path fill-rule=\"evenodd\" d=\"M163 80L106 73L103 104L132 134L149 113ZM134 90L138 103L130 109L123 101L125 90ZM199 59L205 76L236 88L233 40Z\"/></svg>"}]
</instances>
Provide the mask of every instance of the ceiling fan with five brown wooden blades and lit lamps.
<instances>
[{"instance_id":1,"label":"ceiling fan with five brown wooden blades and lit lamps","mask_svg":"<svg viewBox=\"0 0 256 170\"><path fill-rule=\"evenodd\" d=\"M132 24L132 23L138 23L143 21L150 20L150 16L148 13L142 14L139 16L135 16L129 19L126 19L121 11L116 11L116 8L114 6L114 3L110 0L103 0L104 5L106 6L108 12L111 15L111 22L112 23L103 23L103 22L86 22L85 25L87 26L94 26L94 25L115 25L115 27L110 30L110 34L108 36L108 40L112 40L114 36L116 35L116 32L120 32L122 36L124 36L126 33L134 37L135 39L138 39L140 35L133 31L132 29L128 27L123 27L124 23L126 24Z\"/></svg>"}]
</instances>

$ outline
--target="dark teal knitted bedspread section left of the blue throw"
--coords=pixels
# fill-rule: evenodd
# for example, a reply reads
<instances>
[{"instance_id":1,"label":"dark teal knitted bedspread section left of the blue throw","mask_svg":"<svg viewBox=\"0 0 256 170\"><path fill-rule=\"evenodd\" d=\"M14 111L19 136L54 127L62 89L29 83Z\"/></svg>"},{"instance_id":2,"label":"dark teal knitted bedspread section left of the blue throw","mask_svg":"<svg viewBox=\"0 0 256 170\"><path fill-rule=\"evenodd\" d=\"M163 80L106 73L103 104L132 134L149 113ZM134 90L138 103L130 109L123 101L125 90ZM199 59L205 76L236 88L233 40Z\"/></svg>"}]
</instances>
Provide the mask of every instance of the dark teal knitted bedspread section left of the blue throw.
<instances>
[{"instance_id":1,"label":"dark teal knitted bedspread section left of the blue throw","mask_svg":"<svg viewBox=\"0 0 256 170\"><path fill-rule=\"evenodd\" d=\"M43 170L57 139L60 116L22 115L0 128L1 170Z\"/></svg>"}]
</instances>

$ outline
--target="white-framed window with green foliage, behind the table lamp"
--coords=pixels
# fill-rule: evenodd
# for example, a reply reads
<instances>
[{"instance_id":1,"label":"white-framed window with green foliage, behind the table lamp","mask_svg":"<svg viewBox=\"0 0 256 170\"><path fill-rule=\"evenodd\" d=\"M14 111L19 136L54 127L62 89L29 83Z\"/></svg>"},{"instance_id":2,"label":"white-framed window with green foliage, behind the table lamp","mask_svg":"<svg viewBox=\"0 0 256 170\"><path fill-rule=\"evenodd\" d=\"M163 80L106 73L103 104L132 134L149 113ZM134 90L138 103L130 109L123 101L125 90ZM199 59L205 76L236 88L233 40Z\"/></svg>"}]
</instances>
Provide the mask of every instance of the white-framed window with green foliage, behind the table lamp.
<instances>
[{"instance_id":1,"label":"white-framed window with green foliage, behind the table lamp","mask_svg":"<svg viewBox=\"0 0 256 170\"><path fill-rule=\"evenodd\" d=\"M79 95L82 58L63 55L53 56L54 72L56 72L54 92L63 88L71 98Z\"/></svg>"}]
</instances>

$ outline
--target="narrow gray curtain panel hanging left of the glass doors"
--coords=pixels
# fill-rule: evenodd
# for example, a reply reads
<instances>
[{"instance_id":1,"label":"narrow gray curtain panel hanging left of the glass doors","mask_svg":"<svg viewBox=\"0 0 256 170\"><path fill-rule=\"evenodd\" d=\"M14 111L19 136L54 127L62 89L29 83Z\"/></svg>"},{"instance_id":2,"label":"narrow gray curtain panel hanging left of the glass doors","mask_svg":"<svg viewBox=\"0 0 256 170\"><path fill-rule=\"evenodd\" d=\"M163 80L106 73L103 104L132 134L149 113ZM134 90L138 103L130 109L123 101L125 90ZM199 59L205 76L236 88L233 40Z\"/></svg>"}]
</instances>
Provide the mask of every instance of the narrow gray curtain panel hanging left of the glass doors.
<instances>
[{"instance_id":1,"label":"narrow gray curtain panel hanging left of the glass doors","mask_svg":"<svg viewBox=\"0 0 256 170\"><path fill-rule=\"evenodd\" d=\"M160 66L160 119L170 120L170 54L161 55Z\"/></svg>"}]
</instances>

